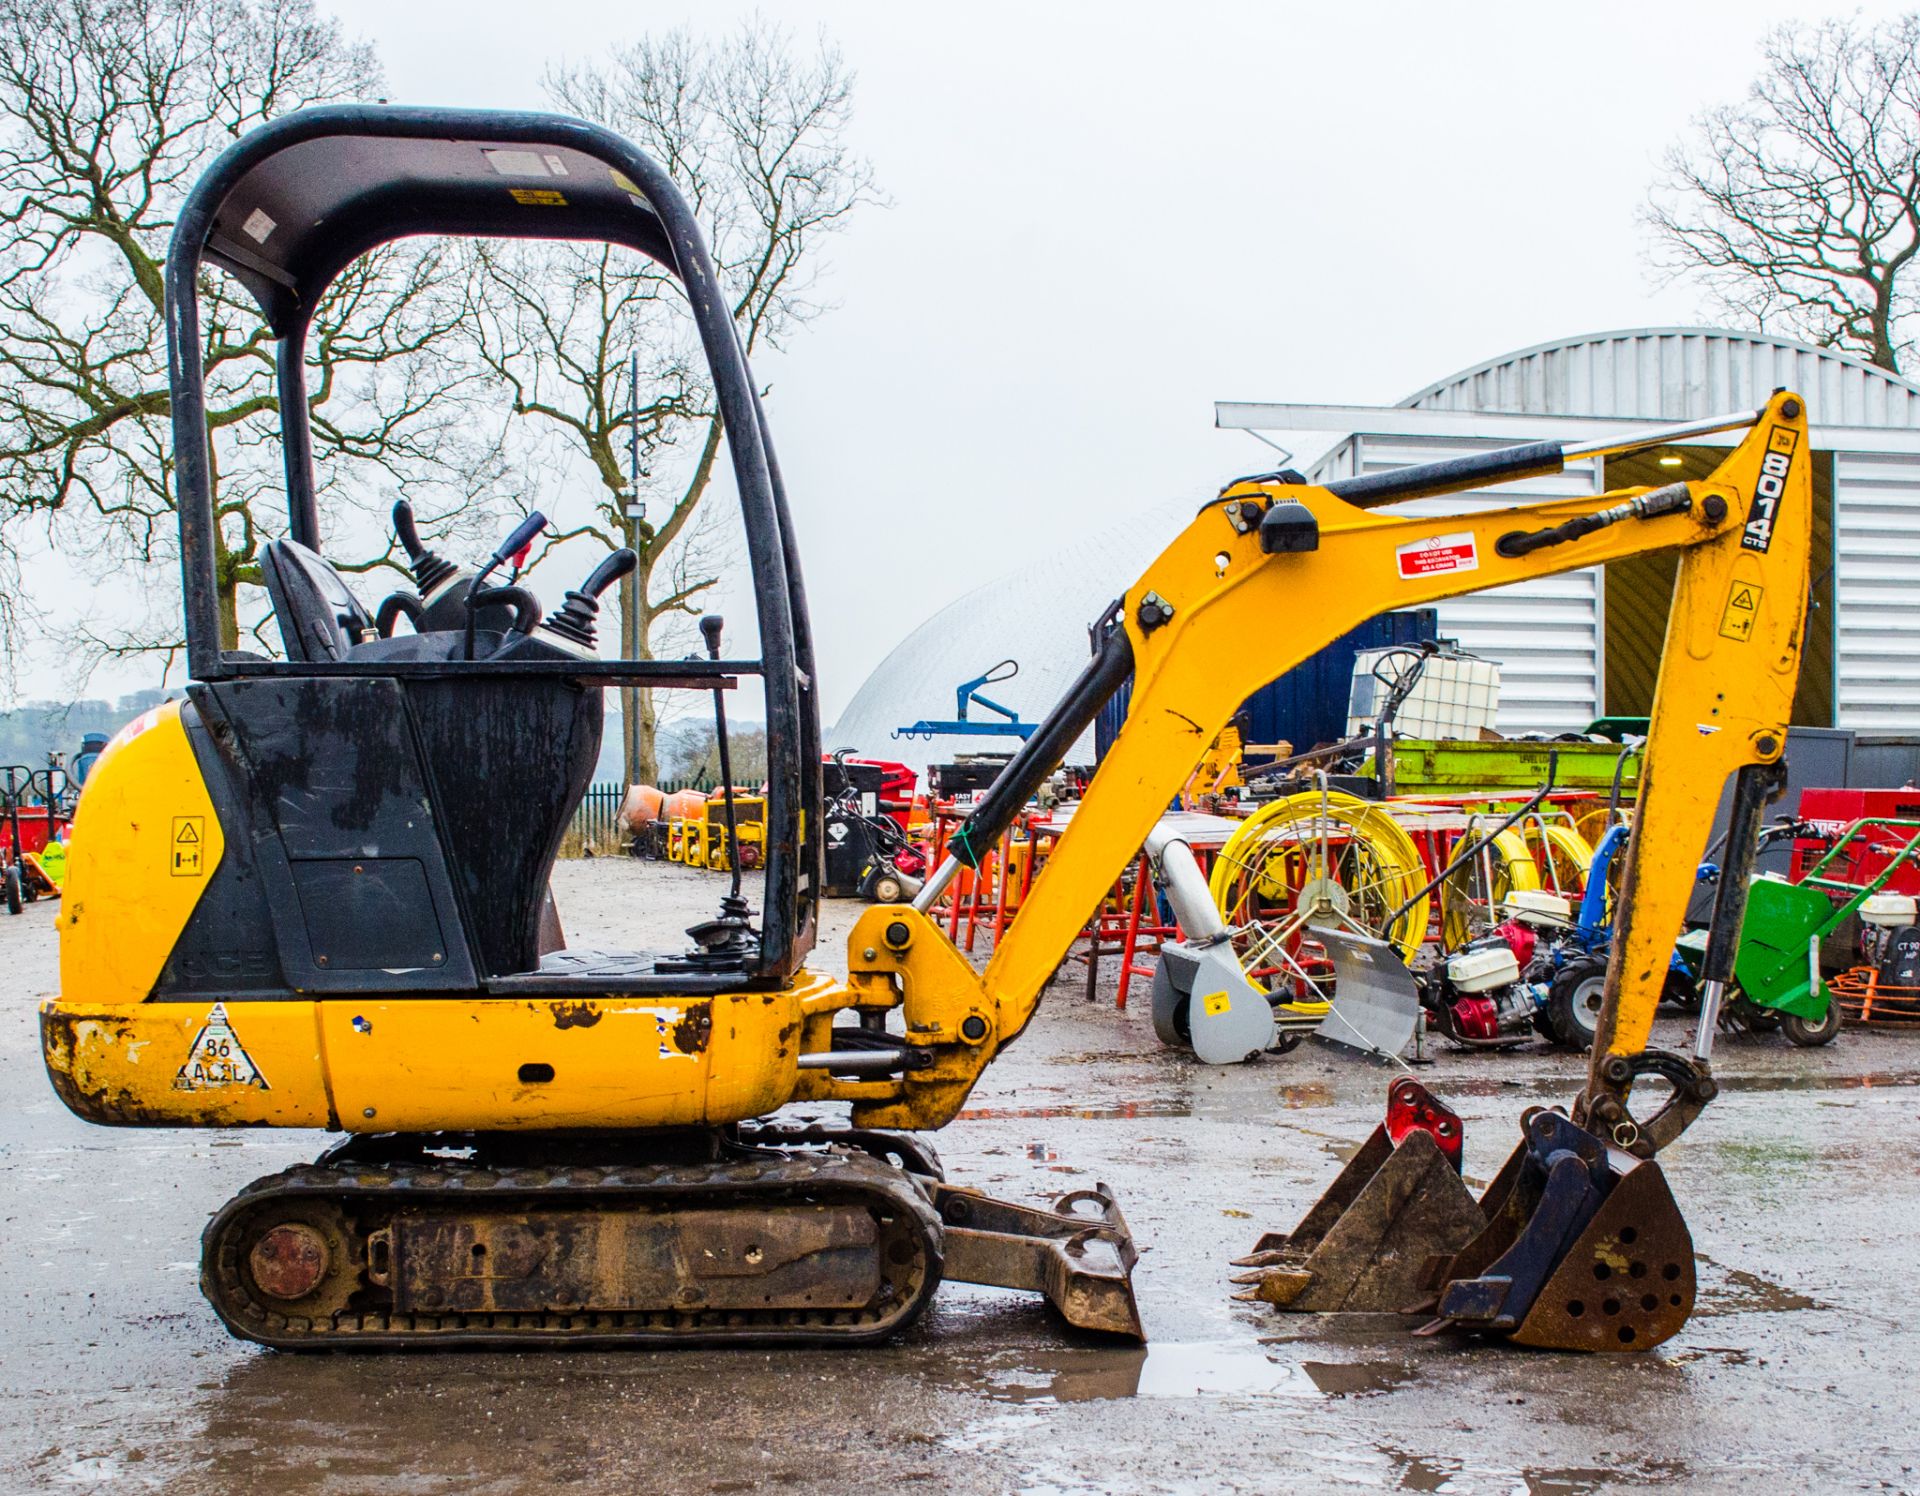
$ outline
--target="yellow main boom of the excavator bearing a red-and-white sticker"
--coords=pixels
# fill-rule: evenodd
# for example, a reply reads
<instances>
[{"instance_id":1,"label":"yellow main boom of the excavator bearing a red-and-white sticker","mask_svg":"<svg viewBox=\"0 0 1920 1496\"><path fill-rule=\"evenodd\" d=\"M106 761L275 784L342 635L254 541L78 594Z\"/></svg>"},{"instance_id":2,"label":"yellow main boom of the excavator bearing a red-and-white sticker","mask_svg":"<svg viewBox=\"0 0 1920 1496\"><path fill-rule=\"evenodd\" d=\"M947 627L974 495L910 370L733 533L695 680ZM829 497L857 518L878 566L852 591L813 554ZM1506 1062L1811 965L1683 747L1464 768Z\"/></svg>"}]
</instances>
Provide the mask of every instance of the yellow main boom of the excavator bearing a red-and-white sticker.
<instances>
[{"instance_id":1,"label":"yellow main boom of the excavator bearing a red-and-white sticker","mask_svg":"<svg viewBox=\"0 0 1920 1496\"><path fill-rule=\"evenodd\" d=\"M1786 415L1788 405L1793 417ZM1711 542L1738 549L1749 526L1751 474L1766 455L1766 434L1791 430L1805 442L1797 398L1776 396L1761 413L1611 446L1538 444L1517 449L1521 457L1490 453L1390 474L1394 482L1384 486L1373 476L1334 486L1365 484L1356 499L1398 501L1559 471L1574 455L1632 451L1682 434L1755 426L1711 478L1653 490L1411 517L1363 509L1334 488L1284 482L1290 474L1231 484L1127 590L1119 626L956 833L954 857L927 880L916 906L872 910L851 933L852 1006L902 1004L908 1037L925 1041L916 1058L920 1068L883 1081L828 1079L816 1070L799 1098L852 1100L862 1125L939 1127L948 1122L998 1047L1025 1027L1087 914L1139 855L1156 818L1248 695L1390 609L1649 551ZM1741 474L1749 478L1745 488ZM1791 543L1782 534L1774 547L1784 557ZM1757 555L1764 563L1766 551ZM1772 572L1761 584L1768 586L1768 578ZM1715 607L1724 601L1720 597ZM1770 593L1766 605L1788 609L1791 599L1784 591ZM1692 632L1682 634L1690 647L1703 643ZM1027 889L983 983L973 981L968 962L925 910L950 881L956 862L977 864L991 851L1129 668L1127 722L1071 826ZM829 1014L822 1012L816 1022L820 1027L810 1025L803 1037L803 1056L826 1043Z\"/></svg>"}]
</instances>

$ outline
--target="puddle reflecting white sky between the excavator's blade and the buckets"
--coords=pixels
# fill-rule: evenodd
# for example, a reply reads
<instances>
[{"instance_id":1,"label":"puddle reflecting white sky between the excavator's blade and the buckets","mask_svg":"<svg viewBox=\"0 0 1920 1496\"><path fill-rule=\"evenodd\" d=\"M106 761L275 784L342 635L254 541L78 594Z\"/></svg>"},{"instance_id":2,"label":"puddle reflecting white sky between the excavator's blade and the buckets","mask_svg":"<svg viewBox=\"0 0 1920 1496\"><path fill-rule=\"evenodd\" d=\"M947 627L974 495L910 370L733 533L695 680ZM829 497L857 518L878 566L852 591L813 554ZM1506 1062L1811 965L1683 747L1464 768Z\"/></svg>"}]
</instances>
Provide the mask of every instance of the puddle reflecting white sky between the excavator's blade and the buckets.
<instances>
[{"instance_id":1,"label":"puddle reflecting white sky between the excavator's blade and the buckets","mask_svg":"<svg viewBox=\"0 0 1920 1496\"><path fill-rule=\"evenodd\" d=\"M1227 1340L1167 1340L1131 1350L1021 1356L1006 1371L960 1381L995 1402L1062 1404L1110 1398L1359 1398L1413 1377L1404 1362L1288 1362Z\"/></svg>"}]
</instances>

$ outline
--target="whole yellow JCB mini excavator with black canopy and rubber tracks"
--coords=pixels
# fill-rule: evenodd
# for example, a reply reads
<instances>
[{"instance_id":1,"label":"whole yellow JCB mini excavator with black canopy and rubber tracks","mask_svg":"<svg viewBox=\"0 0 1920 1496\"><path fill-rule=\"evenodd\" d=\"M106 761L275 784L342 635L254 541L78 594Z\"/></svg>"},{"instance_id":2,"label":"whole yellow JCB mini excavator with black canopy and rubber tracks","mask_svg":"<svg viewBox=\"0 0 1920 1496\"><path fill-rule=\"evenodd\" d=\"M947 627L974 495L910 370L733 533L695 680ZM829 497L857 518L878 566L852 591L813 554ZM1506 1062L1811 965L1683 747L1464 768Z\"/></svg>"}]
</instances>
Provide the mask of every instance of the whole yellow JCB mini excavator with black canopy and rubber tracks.
<instances>
[{"instance_id":1,"label":"whole yellow JCB mini excavator with black canopy and rubber tracks","mask_svg":"<svg viewBox=\"0 0 1920 1496\"><path fill-rule=\"evenodd\" d=\"M303 344L332 278L405 234L605 240L680 278L726 419L756 659L722 659L714 620L707 659L603 661L597 595L632 555L543 615L524 588L493 582L528 526L472 572L424 549L401 509L417 590L374 611L353 595L321 553ZM278 346L288 536L261 567L284 659L221 645L209 267L252 292ZM910 1323L952 1277L1037 1291L1075 1325L1140 1335L1135 1246L1104 1187L1054 1208L993 1200L948 1185L912 1133L950 1122L1020 1035L1087 912L1256 688L1386 609L1649 549L1682 553L1680 586L1601 1043L1572 1118L1528 1122L1523 1154L1540 1154L1546 1183L1528 1175L1501 1208L1548 1273L1590 1252L1592 1196L1601 1214L1619 1206L1605 1216L1615 1246L1636 1229L1684 1237L1653 1150L1713 1081L1703 1050L1657 1054L1647 1035L1707 818L1741 768L1707 958L1724 983L1738 849L1786 739L1811 509L1791 394L1615 444L1327 488L1290 472L1229 486L1125 593L916 905L860 918L839 981L804 964L822 881L820 730L793 526L707 248L666 173L576 119L309 109L213 163L180 209L165 275L192 686L94 768L73 826L61 991L40 1031L56 1091L92 1122L346 1133L209 1221L202 1287L232 1333L296 1348L862 1342ZM1751 430L1703 482L1471 515L1379 507L1738 428ZM927 910L1129 674L1123 732L975 972ZM597 755L603 689L720 703L741 682L756 684L768 724L758 905L735 860L718 912L678 949L564 947L549 872ZM724 711L720 743L724 755ZM1210 1043L1248 1018L1248 1033L1271 1025L1263 993L1196 987L1192 1025ZM1672 1100L1636 1120L1644 1075ZM851 1120L781 1125L772 1114L789 1102L843 1102ZM1586 1191L1571 1204L1569 1170ZM1488 1264L1453 1277L1498 1277ZM1453 1317L1501 1331L1526 1292L1480 1321L1469 1304Z\"/></svg>"}]
</instances>

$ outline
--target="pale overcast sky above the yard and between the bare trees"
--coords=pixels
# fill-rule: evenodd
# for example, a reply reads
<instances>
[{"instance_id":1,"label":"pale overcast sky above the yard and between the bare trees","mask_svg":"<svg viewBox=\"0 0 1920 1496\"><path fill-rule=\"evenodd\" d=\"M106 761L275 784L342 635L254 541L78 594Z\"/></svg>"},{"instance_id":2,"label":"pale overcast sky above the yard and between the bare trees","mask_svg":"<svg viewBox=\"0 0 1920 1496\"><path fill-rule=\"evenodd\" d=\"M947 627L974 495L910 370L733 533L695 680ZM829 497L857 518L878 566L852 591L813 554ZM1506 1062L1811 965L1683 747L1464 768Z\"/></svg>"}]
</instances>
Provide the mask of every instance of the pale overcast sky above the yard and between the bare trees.
<instances>
[{"instance_id":1,"label":"pale overcast sky above the yard and between the bare trees","mask_svg":"<svg viewBox=\"0 0 1920 1496\"><path fill-rule=\"evenodd\" d=\"M334 10L396 102L538 108L549 60L755 8ZM1747 86L1766 29L1851 10L758 6L841 46L893 198L828 242L837 307L758 367L828 720L979 580L1271 467L1215 399L1392 403L1526 344L1699 321L1645 269L1657 157Z\"/></svg>"}]
</instances>

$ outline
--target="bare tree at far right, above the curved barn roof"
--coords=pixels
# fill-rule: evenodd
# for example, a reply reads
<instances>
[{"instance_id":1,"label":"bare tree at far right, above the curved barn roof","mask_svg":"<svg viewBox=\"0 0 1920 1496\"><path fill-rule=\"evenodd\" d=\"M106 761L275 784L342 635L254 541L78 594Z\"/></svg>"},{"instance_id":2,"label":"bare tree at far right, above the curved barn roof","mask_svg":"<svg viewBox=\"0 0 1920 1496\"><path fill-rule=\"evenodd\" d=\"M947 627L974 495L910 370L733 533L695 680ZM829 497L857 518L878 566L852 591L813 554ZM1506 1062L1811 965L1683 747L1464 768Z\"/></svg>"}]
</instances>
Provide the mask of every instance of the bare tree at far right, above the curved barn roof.
<instances>
[{"instance_id":1,"label":"bare tree at far right, above the curved barn roof","mask_svg":"<svg viewBox=\"0 0 1920 1496\"><path fill-rule=\"evenodd\" d=\"M1920 294L1920 15L1789 25L1763 56L1747 98L1667 154L1655 261L1753 326L1899 373Z\"/></svg>"}]
</instances>

